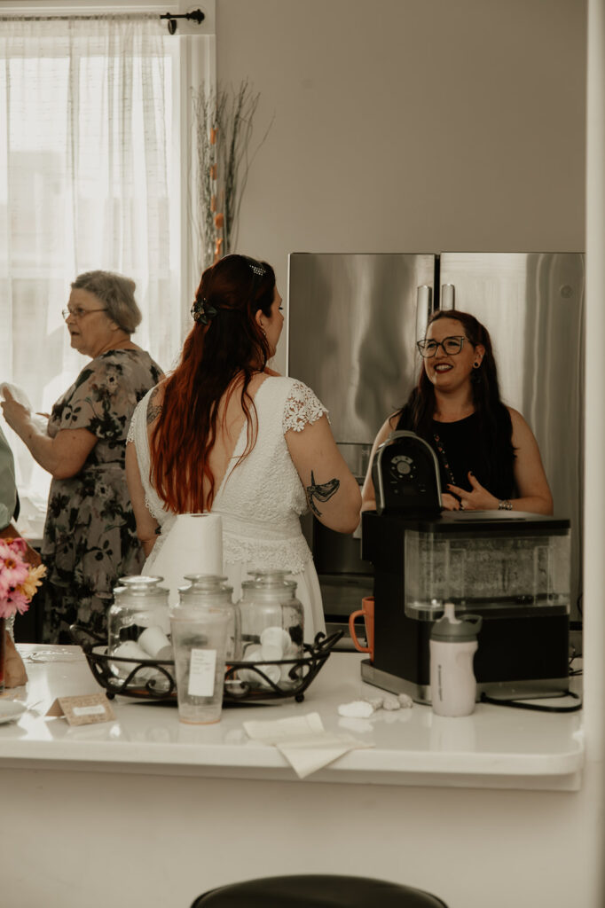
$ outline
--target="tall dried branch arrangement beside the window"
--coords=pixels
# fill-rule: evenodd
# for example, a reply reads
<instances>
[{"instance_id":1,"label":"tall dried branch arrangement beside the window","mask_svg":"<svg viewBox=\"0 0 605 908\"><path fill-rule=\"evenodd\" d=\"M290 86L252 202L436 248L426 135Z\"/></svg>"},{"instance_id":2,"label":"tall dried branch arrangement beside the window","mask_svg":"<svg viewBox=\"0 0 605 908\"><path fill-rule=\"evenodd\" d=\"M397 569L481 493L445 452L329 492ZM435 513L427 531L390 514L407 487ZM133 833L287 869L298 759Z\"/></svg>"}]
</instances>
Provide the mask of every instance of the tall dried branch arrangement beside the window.
<instances>
[{"instance_id":1,"label":"tall dried branch arrangement beside the window","mask_svg":"<svg viewBox=\"0 0 605 908\"><path fill-rule=\"evenodd\" d=\"M271 129L250 154L253 118L260 94L247 79L238 89L210 90L204 83L192 91L197 145L197 211L202 267L233 252L238 219L250 166Z\"/></svg>"}]
</instances>

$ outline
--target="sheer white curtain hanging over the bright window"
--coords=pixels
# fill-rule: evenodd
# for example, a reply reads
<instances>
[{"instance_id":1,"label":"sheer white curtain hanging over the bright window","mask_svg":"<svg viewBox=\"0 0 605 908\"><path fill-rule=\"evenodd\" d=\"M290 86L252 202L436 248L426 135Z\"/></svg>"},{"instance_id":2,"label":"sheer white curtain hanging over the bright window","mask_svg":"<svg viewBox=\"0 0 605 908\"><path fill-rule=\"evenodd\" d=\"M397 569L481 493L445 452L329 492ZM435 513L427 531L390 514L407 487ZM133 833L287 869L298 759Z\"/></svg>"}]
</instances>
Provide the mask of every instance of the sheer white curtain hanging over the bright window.
<instances>
[{"instance_id":1,"label":"sheer white curtain hanging over the bright window","mask_svg":"<svg viewBox=\"0 0 605 908\"><path fill-rule=\"evenodd\" d=\"M158 15L0 20L0 381L35 410L86 361L61 317L82 271L134 278L134 341L164 369L180 348L170 41ZM44 497L48 478L11 444L21 487Z\"/></svg>"}]
</instances>

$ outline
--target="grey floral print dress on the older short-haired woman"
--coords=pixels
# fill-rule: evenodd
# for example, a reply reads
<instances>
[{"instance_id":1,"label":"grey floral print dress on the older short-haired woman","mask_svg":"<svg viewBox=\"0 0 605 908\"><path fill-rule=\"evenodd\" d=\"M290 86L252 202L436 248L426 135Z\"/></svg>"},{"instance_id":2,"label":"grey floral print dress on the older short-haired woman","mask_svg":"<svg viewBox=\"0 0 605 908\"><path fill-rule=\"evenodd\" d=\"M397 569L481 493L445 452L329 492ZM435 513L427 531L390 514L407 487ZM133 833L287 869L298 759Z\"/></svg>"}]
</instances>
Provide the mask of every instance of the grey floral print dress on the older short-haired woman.
<instances>
[{"instance_id":1,"label":"grey floral print dress on the older short-haired woman","mask_svg":"<svg viewBox=\"0 0 605 908\"><path fill-rule=\"evenodd\" d=\"M162 374L144 350L109 350L53 407L51 438L62 429L88 429L98 440L79 473L51 483L42 547L45 643L71 642L74 623L104 635L118 577L143 566L124 455L134 408Z\"/></svg>"}]
</instances>

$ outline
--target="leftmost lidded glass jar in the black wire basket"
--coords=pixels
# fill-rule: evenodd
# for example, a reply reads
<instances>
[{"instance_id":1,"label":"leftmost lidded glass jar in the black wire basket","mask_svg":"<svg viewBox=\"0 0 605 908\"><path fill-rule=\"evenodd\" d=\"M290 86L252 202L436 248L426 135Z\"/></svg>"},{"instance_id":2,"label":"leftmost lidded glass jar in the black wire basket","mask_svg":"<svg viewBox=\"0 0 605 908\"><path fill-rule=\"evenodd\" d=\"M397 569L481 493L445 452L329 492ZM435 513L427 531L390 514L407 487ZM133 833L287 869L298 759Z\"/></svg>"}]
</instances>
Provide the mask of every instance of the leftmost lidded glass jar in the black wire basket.
<instances>
[{"instance_id":1,"label":"leftmost lidded glass jar in the black wire basket","mask_svg":"<svg viewBox=\"0 0 605 908\"><path fill-rule=\"evenodd\" d=\"M163 577L144 575L120 577L119 587L114 587L114 603L107 617L110 656L124 659L172 659L172 646L168 639L168 590L161 587ZM134 667L129 663L112 662L115 675L125 678ZM159 673L141 669L134 681L146 682Z\"/></svg>"}]
</instances>

